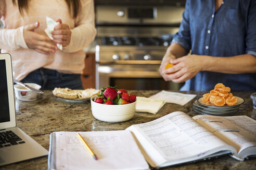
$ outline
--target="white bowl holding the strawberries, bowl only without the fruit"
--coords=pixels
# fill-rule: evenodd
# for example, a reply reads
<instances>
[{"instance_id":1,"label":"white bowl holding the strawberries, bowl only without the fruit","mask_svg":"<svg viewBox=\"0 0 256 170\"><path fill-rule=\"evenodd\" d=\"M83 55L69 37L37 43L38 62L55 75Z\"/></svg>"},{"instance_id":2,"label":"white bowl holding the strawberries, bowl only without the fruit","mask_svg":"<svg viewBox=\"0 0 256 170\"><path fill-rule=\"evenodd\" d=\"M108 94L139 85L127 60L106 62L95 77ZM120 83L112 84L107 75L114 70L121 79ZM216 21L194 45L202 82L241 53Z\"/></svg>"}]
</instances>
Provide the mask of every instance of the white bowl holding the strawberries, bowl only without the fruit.
<instances>
[{"instance_id":1,"label":"white bowl holding the strawberries, bowl only without the fruit","mask_svg":"<svg viewBox=\"0 0 256 170\"><path fill-rule=\"evenodd\" d=\"M93 116L105 122L123 122L130 120L135 115L137 101L124 105L105 105L94 102L95 96L91 97Z\"/></svg>"}]
</instances>

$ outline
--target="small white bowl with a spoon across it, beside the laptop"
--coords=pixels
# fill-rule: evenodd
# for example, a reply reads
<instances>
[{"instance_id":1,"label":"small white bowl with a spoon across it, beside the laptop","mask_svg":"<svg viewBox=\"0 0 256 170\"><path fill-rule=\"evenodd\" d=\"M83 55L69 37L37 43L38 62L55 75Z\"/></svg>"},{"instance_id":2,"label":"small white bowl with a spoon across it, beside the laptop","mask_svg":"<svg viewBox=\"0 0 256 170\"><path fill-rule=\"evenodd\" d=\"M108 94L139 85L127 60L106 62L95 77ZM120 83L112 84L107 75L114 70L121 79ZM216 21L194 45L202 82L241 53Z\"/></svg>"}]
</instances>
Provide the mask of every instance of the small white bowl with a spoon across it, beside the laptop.
<instances>
[{"instance_id":1,"label":"small white bowl with a spoon across it, beside the laptop","mask_svg":"<svg viewBox=\"0 0 256 170\"><path fill-rule=\"evenodd\" d=\"M27 84L28 86L35 88L37 90L41 89L41 86L39 84L35 83L24 83ZM20 84L15 84L14 85L14 90L15 90L15 96L18 98L20 101L34 101L37 99L38 93L31 91Z\"/></svg>"}]
</instances>

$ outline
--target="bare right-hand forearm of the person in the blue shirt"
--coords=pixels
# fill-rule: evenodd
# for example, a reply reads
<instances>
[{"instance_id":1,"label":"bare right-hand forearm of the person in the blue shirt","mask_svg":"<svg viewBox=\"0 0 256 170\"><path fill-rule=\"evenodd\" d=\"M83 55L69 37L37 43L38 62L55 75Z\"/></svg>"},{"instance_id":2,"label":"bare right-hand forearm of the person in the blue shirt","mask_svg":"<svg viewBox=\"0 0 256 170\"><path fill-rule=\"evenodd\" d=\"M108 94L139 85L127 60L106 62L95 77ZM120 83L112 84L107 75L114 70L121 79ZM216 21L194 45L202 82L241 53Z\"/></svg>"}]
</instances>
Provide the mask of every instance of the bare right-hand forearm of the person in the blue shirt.
<instances>
[{"instance_id":1,"label":"bare right-hand forearm of the person in the blue shirt","mask_svg":"<svg viewBox=\"0 0 256 170\"><path fill-rule=\"evenodd\" d=\"M256 73L256 57L250 54L231 57L203 56L201 61L203 71L226 74Z\"/></svg>"}]
</instances>

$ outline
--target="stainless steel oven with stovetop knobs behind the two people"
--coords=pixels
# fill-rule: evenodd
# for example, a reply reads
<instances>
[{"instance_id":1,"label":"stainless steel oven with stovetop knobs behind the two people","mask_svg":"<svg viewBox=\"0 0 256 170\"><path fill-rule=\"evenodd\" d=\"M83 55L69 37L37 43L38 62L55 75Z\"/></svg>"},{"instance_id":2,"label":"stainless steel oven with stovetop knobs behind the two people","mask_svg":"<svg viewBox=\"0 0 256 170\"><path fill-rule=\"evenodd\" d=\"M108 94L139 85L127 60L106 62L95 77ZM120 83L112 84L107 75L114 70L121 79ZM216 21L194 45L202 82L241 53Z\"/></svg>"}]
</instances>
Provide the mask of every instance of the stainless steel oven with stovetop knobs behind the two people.
<instances>
[{"instance_id":1,"label":"stainless steel oven with stovetop knobs behind the two people","mask_svg":"<svg viewBox=\"0 0 256 170\"><path fill-rule=\"evenodd\" d=\"M96 11L96 88L177 90L159 74L162 58L178 31L184 7L106 6Z\"/></svg>"}]
</instances>

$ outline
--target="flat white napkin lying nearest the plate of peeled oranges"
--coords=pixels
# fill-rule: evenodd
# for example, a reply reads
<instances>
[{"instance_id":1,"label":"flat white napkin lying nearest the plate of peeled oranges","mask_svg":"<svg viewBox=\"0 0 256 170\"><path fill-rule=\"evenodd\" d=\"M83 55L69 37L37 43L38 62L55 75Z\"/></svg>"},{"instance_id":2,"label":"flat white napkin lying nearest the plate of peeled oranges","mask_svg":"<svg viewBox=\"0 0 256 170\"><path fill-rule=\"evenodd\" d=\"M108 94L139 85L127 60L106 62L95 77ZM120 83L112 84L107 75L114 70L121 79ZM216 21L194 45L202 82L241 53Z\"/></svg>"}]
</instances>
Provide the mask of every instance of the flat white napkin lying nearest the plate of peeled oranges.
<instances>
[{"instance_id":1,"label":"flat white napkin lying nearest the plate of peeled oranges","mask_svg":"<svg viewBox=\"0 0 256 170\"><path fill-rule=\"evenodd\" d=\"M168 92L168 91L162 90L161 92L155 95L152 95L149 98L164 100L167 103L175 103L175 104L184 106L196 96L197 96L196 94L183 94L183 93Z\"/></svg>"}]
</instances>

